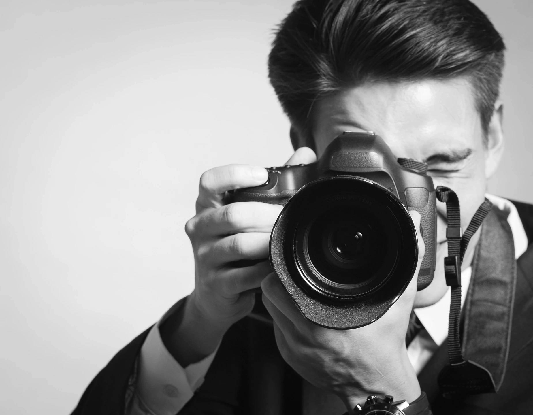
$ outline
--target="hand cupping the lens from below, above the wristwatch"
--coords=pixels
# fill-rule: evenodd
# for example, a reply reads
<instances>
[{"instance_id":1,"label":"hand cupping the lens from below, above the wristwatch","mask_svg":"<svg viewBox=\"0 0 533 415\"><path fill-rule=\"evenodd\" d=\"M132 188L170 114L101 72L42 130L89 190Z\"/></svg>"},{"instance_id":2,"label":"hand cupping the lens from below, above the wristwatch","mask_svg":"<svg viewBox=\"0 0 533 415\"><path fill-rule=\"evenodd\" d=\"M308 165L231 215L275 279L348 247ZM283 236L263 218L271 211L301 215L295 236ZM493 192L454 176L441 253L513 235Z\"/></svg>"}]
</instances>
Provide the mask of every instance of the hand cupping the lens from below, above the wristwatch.
<instances>
[{"instance_id":1,"label":"hand cupping the lens from below, above the wristwatch","mask_svg":"<svg viewBox=\"0 0 533 415\"><path fill-rule=\"evenodd\" d=\"M420 215L409 213L419 247L415 276L397 302L368 326L352 330L317 326L304 318L276 275L269 274L261 284L285 361L312 385L339 396L349 411L370 394L412 402L421 393L405 336L425 247L418 231Z\"/></svg>"}]
</instances>

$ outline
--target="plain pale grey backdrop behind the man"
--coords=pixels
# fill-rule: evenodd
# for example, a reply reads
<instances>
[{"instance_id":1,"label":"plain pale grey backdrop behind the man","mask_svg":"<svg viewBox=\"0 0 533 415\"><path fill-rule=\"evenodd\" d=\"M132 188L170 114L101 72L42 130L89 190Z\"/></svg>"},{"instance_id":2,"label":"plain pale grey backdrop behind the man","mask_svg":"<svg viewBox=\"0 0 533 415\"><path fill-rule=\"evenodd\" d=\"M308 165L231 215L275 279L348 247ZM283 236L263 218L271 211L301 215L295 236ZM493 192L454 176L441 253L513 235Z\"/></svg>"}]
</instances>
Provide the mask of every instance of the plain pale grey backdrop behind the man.
<instances>
[{"instance_id":1,"label":"plain pale grey backdrop behind the man","mask_svg":"<svg viewBox=\"0 0 533 415\"><path fill-rule=\"evenodd\" d=\"M533 3L479 0L508 46L490 191L533 202ZM266 78L291 1L13 0L0 9L0 410L69 413L193 288L198 178L279 165Z\"/></svg>"}]
</instances>

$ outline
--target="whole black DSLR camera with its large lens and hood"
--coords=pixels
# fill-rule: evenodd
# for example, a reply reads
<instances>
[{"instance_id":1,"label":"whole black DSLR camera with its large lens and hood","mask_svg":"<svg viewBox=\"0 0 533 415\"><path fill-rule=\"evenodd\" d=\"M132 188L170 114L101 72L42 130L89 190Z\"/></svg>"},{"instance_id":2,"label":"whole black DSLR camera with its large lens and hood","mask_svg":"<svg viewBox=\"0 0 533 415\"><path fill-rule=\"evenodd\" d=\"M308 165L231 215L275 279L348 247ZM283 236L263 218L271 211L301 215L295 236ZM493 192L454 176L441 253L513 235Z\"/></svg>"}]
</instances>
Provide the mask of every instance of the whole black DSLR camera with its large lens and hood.
<instances>
[{"instance_id":1,"label":"whole black DSLR camera with its large lens and hood","mask_svg":"<svg viewBox=\"0 0 533 415\"><path fill-rule=\"evenodd\" d=\"M357 328L381 317L413 278L408 210L419 212L425 243L418 290L433 279L437 211L426 172L372 132L345 132L317 162L271 167L266 183L235 190L233 201L284 205L270 237L272 269L307 319Z\"/></svg>"}]
</instances>

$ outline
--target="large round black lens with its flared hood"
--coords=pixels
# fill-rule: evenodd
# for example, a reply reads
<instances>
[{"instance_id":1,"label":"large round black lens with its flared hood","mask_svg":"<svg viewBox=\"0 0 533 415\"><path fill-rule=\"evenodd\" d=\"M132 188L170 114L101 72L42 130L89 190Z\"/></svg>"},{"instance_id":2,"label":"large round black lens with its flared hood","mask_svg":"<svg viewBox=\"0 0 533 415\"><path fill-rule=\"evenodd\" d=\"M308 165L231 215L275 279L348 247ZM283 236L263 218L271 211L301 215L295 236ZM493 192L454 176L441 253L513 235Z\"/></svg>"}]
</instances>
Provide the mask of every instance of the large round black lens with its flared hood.
<instances>
[{"instance_id":1,"label":"large round black lens with its flared hood","mask_svg":"<svg viewBox=\"0 0 533 415\"><path fill-rule=\"evenodd\" d=\"M272 269L302 314L334 329L381 317L407 288L417 258L405 206L382 185L353 175L304 185L270 238Z\"/></svg>"}]
</instances>

